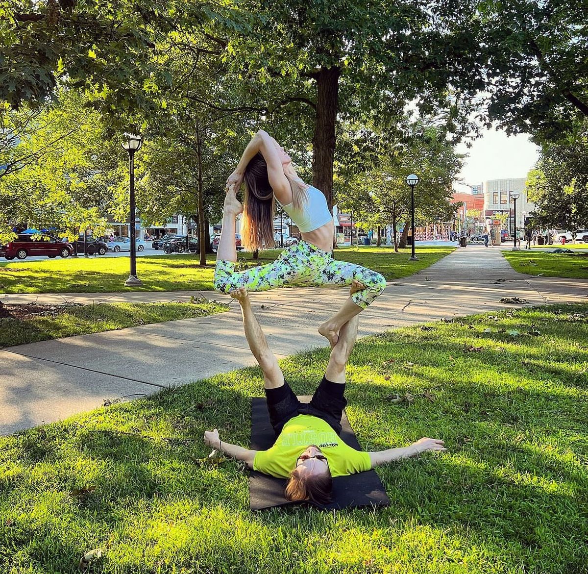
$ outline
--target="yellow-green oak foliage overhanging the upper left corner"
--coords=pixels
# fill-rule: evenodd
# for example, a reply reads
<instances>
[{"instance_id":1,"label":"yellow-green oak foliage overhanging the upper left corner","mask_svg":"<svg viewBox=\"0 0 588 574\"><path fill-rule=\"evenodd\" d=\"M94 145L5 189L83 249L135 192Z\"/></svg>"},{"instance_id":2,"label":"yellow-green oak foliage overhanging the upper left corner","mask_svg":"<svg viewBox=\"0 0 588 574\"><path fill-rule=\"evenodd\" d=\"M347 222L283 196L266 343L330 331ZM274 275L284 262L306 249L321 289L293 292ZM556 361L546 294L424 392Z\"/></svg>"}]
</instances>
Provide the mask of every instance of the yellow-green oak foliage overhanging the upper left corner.
<instances>
[{"instance_id":1,"label":"yellow-green oak foliage overhanging the upper left corner","mask_svg":"<svg viewBox=\"0 0 588 574\"><path fill-rule=\"evenodd\" d=\"M223 15L238 20L206 0L1 0L0 101L44 104L61 76L105 111L147 110L171 83L162 41Z\"/></svg>"}]
</instances>

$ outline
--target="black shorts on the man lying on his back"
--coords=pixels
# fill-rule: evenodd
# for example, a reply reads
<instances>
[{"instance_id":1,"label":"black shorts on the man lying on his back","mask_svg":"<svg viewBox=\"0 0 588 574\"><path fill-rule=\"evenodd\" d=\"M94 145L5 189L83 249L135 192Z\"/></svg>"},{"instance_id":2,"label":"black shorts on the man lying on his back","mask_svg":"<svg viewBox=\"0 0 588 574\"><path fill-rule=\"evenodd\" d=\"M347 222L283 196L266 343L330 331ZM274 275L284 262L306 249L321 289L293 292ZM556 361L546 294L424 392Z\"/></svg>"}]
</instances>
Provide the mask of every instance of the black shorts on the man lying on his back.
<instances>
[{"instance_id":1,"label":"black shorts on the man lying on his back","mask_svg":"<svg viewBox=\"0 0 588 574\"><path fill-rule=\"evenodd\" d=\"M347 406L344 393L345 383L333 383L324 376L308 405L298 400L286 381L277 389L265 389L269 420L276 437L282 432L284 425L298 415L312 415L323 419L340 435L341 417Z\"/></svg>"}]
</instances>

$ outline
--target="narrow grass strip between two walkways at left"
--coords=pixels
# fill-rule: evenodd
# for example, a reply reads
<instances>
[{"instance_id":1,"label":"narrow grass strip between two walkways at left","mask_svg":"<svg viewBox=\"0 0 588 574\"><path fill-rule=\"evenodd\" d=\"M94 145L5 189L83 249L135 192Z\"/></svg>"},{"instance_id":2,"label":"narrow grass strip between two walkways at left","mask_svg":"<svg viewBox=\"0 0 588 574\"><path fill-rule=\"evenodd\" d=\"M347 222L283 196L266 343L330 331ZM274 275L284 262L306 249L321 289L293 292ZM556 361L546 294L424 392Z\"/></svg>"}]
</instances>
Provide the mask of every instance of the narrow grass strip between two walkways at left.
<instances>
[{"instance_id":1,"label":"narrow grass strip between two walkways at left","mask_svg":"<svg viewBox=\"0 0 588 574\"><path fill-rule=\"evenodd\" d=\"M52 308L55 311L49 307L47 315L0 318L0 347L201 317L227 309L222 303L205 299L194 303L98 303Z\"/></svg>"}]
</instances>

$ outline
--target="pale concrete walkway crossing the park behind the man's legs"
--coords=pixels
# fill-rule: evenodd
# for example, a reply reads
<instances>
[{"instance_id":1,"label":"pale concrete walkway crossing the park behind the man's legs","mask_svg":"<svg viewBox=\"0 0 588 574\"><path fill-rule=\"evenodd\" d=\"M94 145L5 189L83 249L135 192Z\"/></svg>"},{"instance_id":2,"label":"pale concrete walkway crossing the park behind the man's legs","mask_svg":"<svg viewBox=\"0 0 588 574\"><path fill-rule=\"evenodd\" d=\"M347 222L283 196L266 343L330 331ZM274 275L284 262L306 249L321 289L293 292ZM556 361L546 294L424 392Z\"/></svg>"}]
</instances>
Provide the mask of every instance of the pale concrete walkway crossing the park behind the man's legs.
<instances>
[{"instance_id":1,"label":"pale concrete walkway crossing the park behind the man's legs","mask_svg":"<svg viewBox=\"0 0 588 574\"><path fill-rule=\"evenodd\" d=\"M501 279L503 281L497 281ZM149 395L244 365L255 365L239 306L215 292L2 295L6 303L186 301L204 295L230 302L220 315L144 325L0 349L0 433L8 434L103 405L105 399ZM345 300L344 289L275 289L252 293L272 349L287 356L325 346L316 328ZM513 271L499 249L468 246L415 275L388 283L360 317L360 336L443 317L530 305L588 302L586 281Z\"/></svg>"}]
</instances>

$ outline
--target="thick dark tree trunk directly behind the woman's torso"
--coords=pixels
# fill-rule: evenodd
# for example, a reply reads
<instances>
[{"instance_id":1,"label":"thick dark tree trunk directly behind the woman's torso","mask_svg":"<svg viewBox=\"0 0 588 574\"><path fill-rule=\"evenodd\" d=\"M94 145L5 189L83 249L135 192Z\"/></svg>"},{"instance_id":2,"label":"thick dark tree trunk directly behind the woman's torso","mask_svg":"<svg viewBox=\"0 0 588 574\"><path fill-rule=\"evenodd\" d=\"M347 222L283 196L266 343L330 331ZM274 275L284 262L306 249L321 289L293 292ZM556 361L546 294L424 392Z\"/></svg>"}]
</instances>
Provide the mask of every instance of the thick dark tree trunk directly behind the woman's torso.
<instances>
[{"instance_id":1,"label":"thick dark tree trunk directly behind the woman's torso","mask_svg":"<svg viewBox=\"0 0 588 574\"><path fill-rule=\"evenodd\" d=\"M325 194L333 209L333 158L339 95L339 68L321 68L316 74L315 135L312 138L312 185Z\"/></svg>"}]
</instances>

